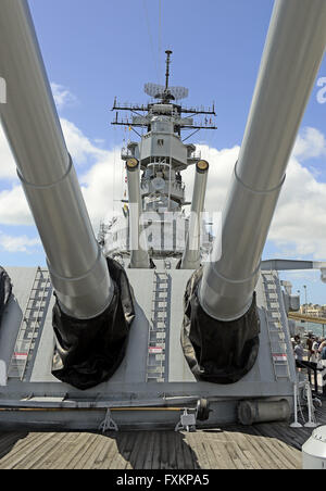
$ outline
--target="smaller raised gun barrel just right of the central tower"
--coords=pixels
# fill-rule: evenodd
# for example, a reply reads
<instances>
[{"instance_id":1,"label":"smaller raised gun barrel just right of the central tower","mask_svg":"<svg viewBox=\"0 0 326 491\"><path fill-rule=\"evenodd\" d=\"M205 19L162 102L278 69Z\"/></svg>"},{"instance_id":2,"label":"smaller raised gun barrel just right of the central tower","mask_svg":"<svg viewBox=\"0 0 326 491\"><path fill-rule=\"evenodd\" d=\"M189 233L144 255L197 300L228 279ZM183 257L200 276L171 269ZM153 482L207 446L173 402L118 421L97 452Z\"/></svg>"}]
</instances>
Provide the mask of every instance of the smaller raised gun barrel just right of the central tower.
<instances>
[{"instance_id":1,"label":"smaller raised gun barrel just right of the central tower","mask_svg":"<svg viewBox=\"0 0 326 491\"><path fill-rule=\"evenodd\" d=\"M204 210L209 167L209 163L203 160L196 165L189 229L180 269L197 269L200 266L201 215Z\"/></svg>"}]
</instances>

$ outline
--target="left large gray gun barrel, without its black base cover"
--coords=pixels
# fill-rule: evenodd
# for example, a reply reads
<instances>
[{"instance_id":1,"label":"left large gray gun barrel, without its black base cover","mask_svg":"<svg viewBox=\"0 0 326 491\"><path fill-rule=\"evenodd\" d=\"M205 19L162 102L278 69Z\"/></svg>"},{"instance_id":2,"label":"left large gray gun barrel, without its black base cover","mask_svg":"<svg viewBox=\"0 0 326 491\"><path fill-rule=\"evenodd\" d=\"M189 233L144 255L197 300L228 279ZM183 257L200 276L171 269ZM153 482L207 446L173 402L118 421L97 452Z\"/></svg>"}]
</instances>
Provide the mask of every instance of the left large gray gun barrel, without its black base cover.
<instances>
[{"instance_id":1,"label":"left large gray gun barrel, without its black base cover","mask_svg":"<svg viewBox=\"0 0 326 491\"><path fill-rule=\"evenodd\" d=\"M110 304L113 284L65 146L27 2L1 0L0 7L3 129L61 307L75 318L91 318Z\"/></svg>"}]
</instances>

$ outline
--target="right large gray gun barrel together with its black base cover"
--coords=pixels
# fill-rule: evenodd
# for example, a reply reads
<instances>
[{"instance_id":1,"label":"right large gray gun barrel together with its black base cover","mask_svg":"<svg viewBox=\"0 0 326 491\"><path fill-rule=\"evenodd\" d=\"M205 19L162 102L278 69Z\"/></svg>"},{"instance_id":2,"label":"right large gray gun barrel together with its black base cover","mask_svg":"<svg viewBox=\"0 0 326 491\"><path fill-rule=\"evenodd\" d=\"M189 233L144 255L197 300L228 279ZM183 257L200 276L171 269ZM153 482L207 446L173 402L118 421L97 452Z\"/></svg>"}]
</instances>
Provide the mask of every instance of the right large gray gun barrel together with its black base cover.
<instances>
[{"instance_id":1,"label":"right large gray gun barrel together with its black base cover","mask_svg":"<svg viewBox=\"0 0 326 491\"><path fill-rule=\"evenodd\" d=\"M222 234L185 294L181 342L201 380L234 383L256 361L261 256L325 46L325 0L276 0Z\"/></svg>"}]
</instances>

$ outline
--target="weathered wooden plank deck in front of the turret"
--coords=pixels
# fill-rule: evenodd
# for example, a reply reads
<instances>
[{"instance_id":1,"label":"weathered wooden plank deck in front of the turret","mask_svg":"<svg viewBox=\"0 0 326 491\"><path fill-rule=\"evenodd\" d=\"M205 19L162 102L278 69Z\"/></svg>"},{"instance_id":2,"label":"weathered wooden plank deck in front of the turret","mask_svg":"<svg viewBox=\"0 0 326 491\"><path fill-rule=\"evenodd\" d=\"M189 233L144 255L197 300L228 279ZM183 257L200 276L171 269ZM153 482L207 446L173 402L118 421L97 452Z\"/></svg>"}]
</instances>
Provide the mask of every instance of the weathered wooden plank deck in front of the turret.
<instances>
[{"instance_id":1,"label":"weathered wooden plank deck in front of the turret","mask_svg":"<svg viewBox=\"0 0 326 491\"><path fill-rule=\"evenodd\" d=\"M285 423L191 433L0 433L0 469L300 469L311 433Z\"/></svg>"}]
</instances>

